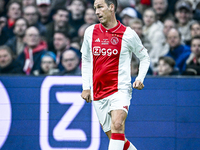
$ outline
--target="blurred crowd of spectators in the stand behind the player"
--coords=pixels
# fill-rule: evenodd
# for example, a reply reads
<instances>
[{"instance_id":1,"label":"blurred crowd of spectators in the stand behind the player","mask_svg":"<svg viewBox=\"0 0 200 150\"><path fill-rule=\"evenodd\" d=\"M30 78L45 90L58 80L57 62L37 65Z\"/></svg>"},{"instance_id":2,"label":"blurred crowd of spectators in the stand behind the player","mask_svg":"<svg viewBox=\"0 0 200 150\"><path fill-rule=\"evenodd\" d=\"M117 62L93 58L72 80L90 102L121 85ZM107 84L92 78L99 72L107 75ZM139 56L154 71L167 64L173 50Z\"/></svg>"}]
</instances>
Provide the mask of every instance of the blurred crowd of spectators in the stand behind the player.
<instances>
[{"instance_id":1,"label":"blurred crowd of spectators in the stand behind the player","mask_svg":"<svg viewBox=\"0 0 200 150\"><path fill-rule=\"evenodd\" d=\"M94 0L0 0L0 75L81 75ZM200 0L118 0L116 17L148 49L148 75L200 75ZM132 56L131 75L139 61Z\"/></svg>"}]
</instances>

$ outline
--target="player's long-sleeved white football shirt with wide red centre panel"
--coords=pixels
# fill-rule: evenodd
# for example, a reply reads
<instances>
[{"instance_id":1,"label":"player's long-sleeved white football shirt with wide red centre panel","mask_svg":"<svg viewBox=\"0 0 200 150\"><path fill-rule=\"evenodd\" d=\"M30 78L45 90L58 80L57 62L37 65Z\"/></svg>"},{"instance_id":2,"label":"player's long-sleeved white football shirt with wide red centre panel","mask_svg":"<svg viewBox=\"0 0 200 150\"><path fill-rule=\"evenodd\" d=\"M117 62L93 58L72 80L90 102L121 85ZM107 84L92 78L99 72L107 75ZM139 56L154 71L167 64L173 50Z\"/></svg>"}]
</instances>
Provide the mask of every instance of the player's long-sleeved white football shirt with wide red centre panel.
<instances>
[{"instance_id":1,"label":"player's long-sleeved white football shirt with wide red centre panel","mask_svg":"<svg viewBox=\"0 0 200 150\"><path fill-rule=\"evenodd\" d=\"M91 88L93 100L103 99L118 90L130 90L132 53L140 60L136 80L143 82L150 58L138 35L118 21L112 29L102 24L88 27L84 34L82 52L83 90Z\"/></svg>"}]
</instances>

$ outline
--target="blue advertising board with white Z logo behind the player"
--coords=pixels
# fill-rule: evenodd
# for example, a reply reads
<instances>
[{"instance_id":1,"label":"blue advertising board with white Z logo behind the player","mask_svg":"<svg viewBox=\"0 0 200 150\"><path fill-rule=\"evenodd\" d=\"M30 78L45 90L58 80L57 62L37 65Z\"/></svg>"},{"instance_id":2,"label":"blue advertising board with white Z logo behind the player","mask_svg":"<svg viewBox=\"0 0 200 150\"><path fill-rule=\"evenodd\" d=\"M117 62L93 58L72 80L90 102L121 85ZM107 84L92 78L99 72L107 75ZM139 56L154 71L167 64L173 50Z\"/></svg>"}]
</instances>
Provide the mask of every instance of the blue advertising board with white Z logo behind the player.
<instances>
[{"instance_id":1,"label":"blue advertising board with white Z logo behind the player","mask_svg":"<svg viewBox=\"0 0 200 150\"><path fill-rule=\"evenodd\" d=\"M1 76L0 83L8 93L12 113L8 135L4 136L3 129L0 128L0 139L5 138L0 149L40 150L44 149L41 146L44 142L49 144L51 149L88 149L92 143L97 143L97 149L90 149L106 150L109 141L96 123L97 120L93 120L93 107L91 104L81 104L82 100L78 97L82 90L78 80L81 80L81 77ZM49 82L53 84L47 87L48 84L44 83ZM45 97L44 91L49 97ZM67 95L66 99L62 98L62 94ZM1 95L2 93L0 93L0 108L3 108L5 104L1 103ZM44 102L45 98L48 102ZM78 101L83 106L79 108L77 104L73 105L73 101ZM71 116L69 114L71 108L77 115L70 123L70 119L63 121L64 116ZM0 110L1 115L4 113L6 113L4 109ZM48 120L43 116L47 116ZM3 120L0 120L0 123L3 123ZM72 130L71 133L82 132L85 134L85 140L84 136L83 140L79 140L79 135L74 134L71 134L73 137L71 139L70 135L59 136L59 130L63 130L57 128L59 124L61 126L69 124L66 128L65 126L62 128L66 131ZM48 127L44 133L47 133L48 137L43 134L45 125ZM56 128L58 130L55 130ZM93 134L94 132L96 133ZM143 90L133 90L126 121L126 137L138 150L198 150L200 78L147 77Z\"/></svg>"}]
</instances>

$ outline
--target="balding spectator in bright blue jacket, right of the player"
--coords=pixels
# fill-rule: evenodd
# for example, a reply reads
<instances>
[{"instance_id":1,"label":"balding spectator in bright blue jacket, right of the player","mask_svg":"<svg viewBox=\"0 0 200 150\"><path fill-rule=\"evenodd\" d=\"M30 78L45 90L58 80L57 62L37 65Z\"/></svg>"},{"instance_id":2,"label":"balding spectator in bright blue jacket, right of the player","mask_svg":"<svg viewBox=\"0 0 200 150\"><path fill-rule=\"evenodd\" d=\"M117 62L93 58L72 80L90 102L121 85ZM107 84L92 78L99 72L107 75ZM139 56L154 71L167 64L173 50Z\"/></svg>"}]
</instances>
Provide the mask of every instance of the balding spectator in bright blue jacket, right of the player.
<instances>
[{"instance_id":1,"label":"balding spectator in bright blue jacket, right of the player","mask_svg":"<svg viewBox=\"0 0 200 150\"><path fill-rule=\"evenodd\" d=\"M182 73L185 70L186 60L191 53L190 47L181 44L181 34L175 28L169 31L167 42L170 49L166 56L170 56L175 60L176 67L179 69L180 73Z\"/></svg>"}]
</instances>

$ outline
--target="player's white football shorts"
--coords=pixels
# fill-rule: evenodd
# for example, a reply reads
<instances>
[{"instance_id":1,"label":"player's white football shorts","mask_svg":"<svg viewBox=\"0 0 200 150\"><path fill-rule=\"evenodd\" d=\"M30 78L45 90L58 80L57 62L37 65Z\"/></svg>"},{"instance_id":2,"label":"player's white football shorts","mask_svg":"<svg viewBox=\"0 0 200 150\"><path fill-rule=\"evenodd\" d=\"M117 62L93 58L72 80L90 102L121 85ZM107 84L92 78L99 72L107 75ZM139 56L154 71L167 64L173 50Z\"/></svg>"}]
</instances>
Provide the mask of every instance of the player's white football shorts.
<instances>
[{"instance_id":1,"label":"player's white football shorts","mask_svg":"<svg viewBox=\"0 0 200 150\"><path fill-rule=\"evenodd\" d=\"M111 114L112 110L124 110L128 114L132 91L119 90L118 92L103 98L93 101L96 114L104 132L111 130Z\"/></svg>"}]
</instances>

